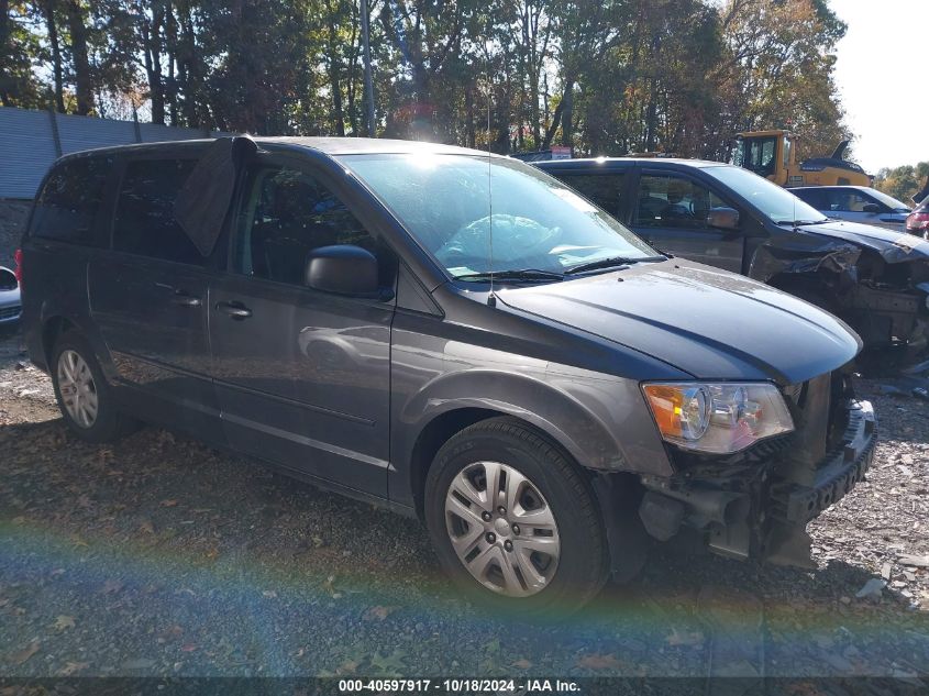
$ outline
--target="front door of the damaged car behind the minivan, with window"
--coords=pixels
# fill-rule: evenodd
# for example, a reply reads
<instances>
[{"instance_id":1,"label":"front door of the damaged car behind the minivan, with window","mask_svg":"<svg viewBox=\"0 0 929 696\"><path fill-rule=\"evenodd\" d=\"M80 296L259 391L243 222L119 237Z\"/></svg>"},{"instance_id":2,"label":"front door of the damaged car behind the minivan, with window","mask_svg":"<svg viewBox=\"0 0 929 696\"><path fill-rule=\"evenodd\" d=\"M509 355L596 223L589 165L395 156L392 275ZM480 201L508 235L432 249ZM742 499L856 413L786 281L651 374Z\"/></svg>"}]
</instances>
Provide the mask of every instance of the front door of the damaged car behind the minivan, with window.
<instances>
[{"instance_id":1,"label":"front door of the damaged car behind the minivan, with window","mask_svg":"<svg viewBox=\"0 0 929 696\"><path fill-rule=\"evenodd\" d=\"M707 214L729 203L683 174L645 170L639 178L630 227L663 252L742 273L744 235L709 227Z\"/></svg>"}]
</instances>

